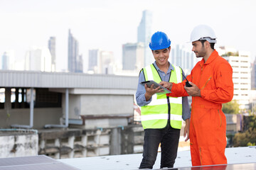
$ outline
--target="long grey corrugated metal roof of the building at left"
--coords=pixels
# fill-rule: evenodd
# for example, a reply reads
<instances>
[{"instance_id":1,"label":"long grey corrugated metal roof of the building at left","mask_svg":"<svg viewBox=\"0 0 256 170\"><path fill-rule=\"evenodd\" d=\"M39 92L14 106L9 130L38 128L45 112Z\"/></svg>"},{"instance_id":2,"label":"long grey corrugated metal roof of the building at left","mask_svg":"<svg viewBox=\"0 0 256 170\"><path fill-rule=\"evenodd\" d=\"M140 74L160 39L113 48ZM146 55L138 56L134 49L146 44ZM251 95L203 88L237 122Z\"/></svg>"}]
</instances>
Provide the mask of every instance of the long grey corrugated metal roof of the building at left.
<instances>
[{"instance_id":1,"label":"long grey corrugated metal roof of the building at left","mask_svg":"<svg viewBox=\"0 0 256 170\"><path fill-rule=\"evenodd\" d=\"M2 87L137 89L138 77L0 70Z\"/></svg>"}]
</instances>

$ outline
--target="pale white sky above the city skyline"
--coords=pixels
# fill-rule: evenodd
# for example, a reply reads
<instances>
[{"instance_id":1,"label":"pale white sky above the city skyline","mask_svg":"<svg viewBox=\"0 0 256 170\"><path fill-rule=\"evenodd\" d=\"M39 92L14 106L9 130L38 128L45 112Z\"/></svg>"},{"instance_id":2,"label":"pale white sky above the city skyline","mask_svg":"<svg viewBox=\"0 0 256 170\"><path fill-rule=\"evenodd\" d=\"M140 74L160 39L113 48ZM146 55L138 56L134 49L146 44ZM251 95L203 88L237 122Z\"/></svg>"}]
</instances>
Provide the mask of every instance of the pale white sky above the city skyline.
<instances>
[{"instance_id":1,"label":"pale white sky above the city skyline","mask_svg":"<svg viewBox=\"0 0 256 170\"><path fill-rule=\"evenodd\" d=\"M114 52L122 63L122 45L137 42L142 11L153 13L152 33L164 31L171 46L185 45L198 24L215 30L219 46L256 56L255 0L0 0L0 56L14 50L16 60L33 46L56 38L57 69L68 68L68 29L79 42L87 69L90 49Z\"/></svg>"}]
</instances>

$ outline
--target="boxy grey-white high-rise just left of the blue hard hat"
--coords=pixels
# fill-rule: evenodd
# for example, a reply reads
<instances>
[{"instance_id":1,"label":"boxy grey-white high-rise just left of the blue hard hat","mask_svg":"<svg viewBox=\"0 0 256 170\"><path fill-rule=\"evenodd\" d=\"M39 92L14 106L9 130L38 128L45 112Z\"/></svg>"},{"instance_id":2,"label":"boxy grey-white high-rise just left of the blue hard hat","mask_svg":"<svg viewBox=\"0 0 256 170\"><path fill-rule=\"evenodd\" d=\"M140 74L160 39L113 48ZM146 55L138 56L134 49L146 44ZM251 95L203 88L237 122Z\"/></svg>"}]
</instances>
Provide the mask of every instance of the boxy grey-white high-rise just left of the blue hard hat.
<instances>
[{"instance_id":1,"label":"boxy grey-white high-rise just left of the blue hard hat","mask_svg":"<svg viewBox=\"0 0 256 170\"><path fill-rule=\"evenodd\" d=\"M154 57L151 56L153 59ZM144 67L144 43L127 43L122 45L123 70L136 70Z\"/></svg>"}]
</instances>

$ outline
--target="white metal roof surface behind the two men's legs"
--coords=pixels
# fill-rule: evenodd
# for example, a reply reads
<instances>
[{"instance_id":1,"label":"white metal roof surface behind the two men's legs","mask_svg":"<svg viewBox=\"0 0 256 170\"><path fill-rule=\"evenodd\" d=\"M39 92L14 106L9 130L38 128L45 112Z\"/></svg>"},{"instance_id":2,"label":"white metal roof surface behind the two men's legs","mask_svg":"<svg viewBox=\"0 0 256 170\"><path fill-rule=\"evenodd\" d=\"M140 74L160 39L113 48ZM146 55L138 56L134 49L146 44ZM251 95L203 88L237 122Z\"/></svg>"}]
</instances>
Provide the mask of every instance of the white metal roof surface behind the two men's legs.
<instances>
[{"instance_id":1,"label":"white metal roof surface behind the two men's legs","mask_svg":"<svg viewBox=\"0 0 256 170\"><path fill-rule=\"evenodd\" d=\"M225 155L228 164L256 163L256 147L233 147L226 148ZM161 152L159 152L154 169L159 169ZM132 170L139 169L142 154L122 154L105 157L85 157L73 159L58 159L58 161L74 166L80 170L102 169L102 170ZM175 168L188 167L191 164L190 151L178 152Z\"/></svg>"}]
</instances>

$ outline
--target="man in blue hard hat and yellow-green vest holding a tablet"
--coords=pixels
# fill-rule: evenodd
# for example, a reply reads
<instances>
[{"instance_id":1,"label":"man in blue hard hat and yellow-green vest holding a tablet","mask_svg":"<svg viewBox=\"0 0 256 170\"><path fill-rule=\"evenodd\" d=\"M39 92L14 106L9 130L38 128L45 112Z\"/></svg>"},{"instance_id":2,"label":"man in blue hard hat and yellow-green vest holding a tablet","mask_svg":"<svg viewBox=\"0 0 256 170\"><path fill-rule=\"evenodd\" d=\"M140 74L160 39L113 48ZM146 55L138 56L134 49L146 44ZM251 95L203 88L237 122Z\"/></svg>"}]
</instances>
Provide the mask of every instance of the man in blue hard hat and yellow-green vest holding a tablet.
<instances>
[{"instance_id":1,"label":"man in blue hard hat and yellow-green vest holding a tablet","mask_svg":"<svg viewBox=\"0 0 256 170\"><path fill-rule=\"evenodd\" d=\"M184 137L189 139L190 112L188 98L167 97L159 87L142 85L142 81L154 80L181 82L183 71L171 64L168 59L171 40L163 32L156 32L151 37L151 48L155 62L144 67L139 73L136 93L137 104L142 107L141 120L144 128L143 159L139 169L152 169L161 144L160 168L172 168L177 156L178 140L182 119L185 120Z\"/></svg>"}]
</instances>

